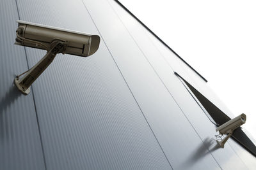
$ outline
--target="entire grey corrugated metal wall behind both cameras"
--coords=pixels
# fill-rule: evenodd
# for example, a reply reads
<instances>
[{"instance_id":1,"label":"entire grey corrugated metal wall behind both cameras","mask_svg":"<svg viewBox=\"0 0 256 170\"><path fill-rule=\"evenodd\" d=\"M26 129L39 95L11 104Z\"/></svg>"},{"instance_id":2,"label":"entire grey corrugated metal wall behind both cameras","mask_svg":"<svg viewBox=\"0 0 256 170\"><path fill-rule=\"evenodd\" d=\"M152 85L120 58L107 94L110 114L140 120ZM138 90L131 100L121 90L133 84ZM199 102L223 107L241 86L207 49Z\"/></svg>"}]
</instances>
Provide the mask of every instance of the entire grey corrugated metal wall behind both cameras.
<instances>
[{"instance_id":1,"label":"entire grey corrugated metal wall behind both cameras","mask_svg":"<svg viewBox=\"0 0 256 170\"><path fill-rule=\"evenodd\" d=\"M215 125L173 71L233 117L225 104L115 1L0 4L0 169L256 167L232 139L218 147ZM23 96L13 79L45 51L13 45L15 20L98 34L99 50L58 54Z\"/></svg>"}]
</instances>

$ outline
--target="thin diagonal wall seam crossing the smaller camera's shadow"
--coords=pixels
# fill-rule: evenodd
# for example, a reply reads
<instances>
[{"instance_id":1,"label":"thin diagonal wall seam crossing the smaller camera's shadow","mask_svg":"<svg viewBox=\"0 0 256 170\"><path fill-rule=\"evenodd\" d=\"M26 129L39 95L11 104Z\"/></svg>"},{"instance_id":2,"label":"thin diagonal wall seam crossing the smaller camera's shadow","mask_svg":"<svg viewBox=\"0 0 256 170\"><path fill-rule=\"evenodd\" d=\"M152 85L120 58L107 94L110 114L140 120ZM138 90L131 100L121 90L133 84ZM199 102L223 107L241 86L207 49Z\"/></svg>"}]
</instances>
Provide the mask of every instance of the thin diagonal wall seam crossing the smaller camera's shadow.
<instances>
[{"instance_id":1,"label":"thin diagonal wall seam crossing the smaller camera's shadow","mask_svg":"<svg viewBox=\"0 0 256 170\"><path fill-rule=\"evenodd\" d=\"M108 0L106 0L106 1L108 1ZM111 4L109 4L109 5L111 6ZM113 11L115 11L112 6L111 6L111 8L112 8ZM115 13L116 13L116 11L115 11ZM126 29L127 32L129 33L129 35L131 36L131 38L132 38L132 40L134 41L134 43L136 43L136 45L137 45L138 48L140 49L140 52L143 54L143 56L144 56L145 59L147 60L148 64L150 64L150 66L152 67L152 69L153 69L154 72L156 73L157 77L159 78L159 80L161 81L161 83L164 85L164 88L168 91L168 93L170 94L170 96L172 96L173 101L175 101L175 103L176 103L177 106L179 107L180 111L182 111L184 117L188 120L189 124L190 124L191 127L194 129L194 131L196 132L197 136L201 139L203 145L205 146L203 139L200 137L200 135L198 134L198 132L196 131L195 127L192 125L192 123L190 122L190 120L188 119L188 117L186 116L186 114L184 113L184 111L182 110L182 108L180 108L180 106L179 106L179 104L177 103L176 99L173 97L172 93L170 92L170 90L168 89L168 87L165 85L164 81L161 79L161 77L160 77L159 74L157 73L156 69L154 69L154 67L152 66L151 62L147 59L145 53L143 52L143 50L141 50L140 46L138 45L138 43L136 42L136 40L135 40L134 37L132 36L131 32L127 29L127 27L125 26L124 22L123 22L123 21L121 20L121 18L117 15L117 13L116 13L116 16L118 17L118 19L120 20L120 22L122 23L122 25L125 27L125 29ZM172 68L172 67L171 67L171 68ZM205 148L208 150L209 153L211 153L210 150L209 150L207 147L205 147ZM215 160L215 162L218 164L218 166L220 167L220 169L222 169L221 166L220 166L220 164L218 163L218 161L217 161L217 160L215 159L215 157L212 155L212 153L211 153L211 156L212 156L212 158Z\"/></svg>"}]
</instances>

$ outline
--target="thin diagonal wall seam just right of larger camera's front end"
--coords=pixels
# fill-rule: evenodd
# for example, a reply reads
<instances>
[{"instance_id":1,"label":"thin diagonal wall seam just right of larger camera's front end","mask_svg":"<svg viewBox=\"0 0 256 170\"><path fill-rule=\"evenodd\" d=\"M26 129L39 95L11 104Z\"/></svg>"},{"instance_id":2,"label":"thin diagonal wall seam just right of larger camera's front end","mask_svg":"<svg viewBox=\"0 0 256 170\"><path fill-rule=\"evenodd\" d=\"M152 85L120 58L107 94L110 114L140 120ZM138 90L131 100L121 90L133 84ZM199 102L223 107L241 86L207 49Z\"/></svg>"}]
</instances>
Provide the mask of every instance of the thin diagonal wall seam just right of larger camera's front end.
<instances>
[{"instance_id":1,"label":"thin diagonal wall seam just right of larger camera's front end","mask_svg":"<svg viewBox=\"0 0 256 170\"><path fill-rule=\"evenodd\" d=\"M82 1L82 2L83 2L83 4L84 4L84 1L83 1L83 0L81 0L81 1ZM86 7L86 5L85 5L85 4L84 4L84 7L86 8L86 11L87 11L87 12L88 12L88 14L90 15L90 12L88 11L88 8ZM99 32L99 34L100 34L100 31L99 31L99 29L98 29L97 25L95 24L95 22L94 22L94 20L93 20L93 18L92 18L92 15L90 15L90 18L92 19L93 24L95 25L95 27L96 27L97 31L98 31L98 32ZM100 34L100 36L101 36L102 40L104 41L104 38L102 37L102 35L101 35L101 34ZM105 41L104 41L104 44L106 45L106 42L105 42ZM125 80L125 78L124 78L124 75L122 74L122 72L121 72L120 68L118 67L118 64L116 63L116 61L115 61L115 59L114 59L114 57L113 57L112 53L110 52L110 50L109 50L109 48L108 48L108 46L107 46L107 45L106 45L106 48L108 49L108 52L110 53L110 55L111 55L112 59L114 60L115 65L116 65L116 67L118 68L118 71L120 72L120 74L121 74L122 78L123 78L123 79L124 79L124 81L125 81L125 84L127 85L127 87L128 87L128 89L129 89L129 91L131 92L131 95L132 95L132 97L134 98L134 101L136 102L136 104L137 104L138 108L140 109L140 111L141 111L141 113L142 113L143 117L145 118L145 121L147 122L148 127L150 128L150 131L151 131L151 132L152 132L152 134L154 135L154 138L156 139L157 144L158 144L158 145L159 145L159 147L161 148L161 151L163 152L164 157L166 158L166 160L167 160L168 164L170 165L170 167L173 169L173 167L172 167L172 165L171 165L170 161L168 160L168 157L166 156L166 153L164 153L164 150L163 150L162 146L160 145L160 143L159 143L158 139L156 138L156 134L155 134L155 133L154 133L154 131L152 130L152 127L150 127L150 124L148 123L147 118L145 117L145 115L144 115L143 111L141 110L141 107L140 107L140 105L138 104L138 101L136 100L136 98L135 98L134 94L132 93L132 90L130 89L130 87L129 87L129 85L128 85L127 81L126 81L126 80Z\"/></svg>"}]
</instances>

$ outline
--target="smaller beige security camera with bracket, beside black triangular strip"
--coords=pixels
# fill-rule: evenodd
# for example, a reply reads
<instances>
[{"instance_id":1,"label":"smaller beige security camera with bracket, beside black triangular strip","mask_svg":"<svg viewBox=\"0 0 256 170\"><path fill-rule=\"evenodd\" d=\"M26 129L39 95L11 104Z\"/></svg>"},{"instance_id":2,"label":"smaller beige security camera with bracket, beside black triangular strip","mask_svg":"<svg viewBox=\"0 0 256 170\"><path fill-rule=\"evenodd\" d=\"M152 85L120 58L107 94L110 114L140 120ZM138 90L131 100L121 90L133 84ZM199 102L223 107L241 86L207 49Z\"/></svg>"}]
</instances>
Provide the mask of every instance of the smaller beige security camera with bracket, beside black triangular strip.
<instances>
[{"instance_id":1,"label":"smaller beige security camera with bracket, beside black triangular strip","mask_svg":"<svg viewBox=\"0 0 256 170\"><path fill-rule=\"evenodd\" d=\"M240 127L241 125L245 124L246 122L246 115L243 113L239 115L238 117L235 117L228 122L226 122L223 125L220 125L216 128L216 132L219 131L220 135L227 134L227 136L222 139L221 141L218 141L221 148L224 148L225 143L227 142L228 138L232 135L233 131Z\"/></svg>"}]
</instances>

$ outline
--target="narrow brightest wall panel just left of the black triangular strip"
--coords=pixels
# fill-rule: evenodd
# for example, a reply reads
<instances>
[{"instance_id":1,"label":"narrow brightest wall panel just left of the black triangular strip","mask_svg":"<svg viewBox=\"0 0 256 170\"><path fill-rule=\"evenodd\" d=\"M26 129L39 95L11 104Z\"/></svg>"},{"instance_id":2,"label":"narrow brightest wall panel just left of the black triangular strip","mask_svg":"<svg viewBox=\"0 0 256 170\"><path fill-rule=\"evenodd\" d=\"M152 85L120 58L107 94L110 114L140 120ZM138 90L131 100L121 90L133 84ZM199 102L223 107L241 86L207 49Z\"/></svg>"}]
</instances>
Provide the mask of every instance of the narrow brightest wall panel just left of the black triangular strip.
<instances>
[{"instance_id":1,"label":"narrow brightest wall panel just left of the black triangular strip","mask_svg":"<svg viewBox=\"0 0 256 170\"><path fill-rule=\"evenodd\" d=\"M168 66L166 60L161 56L161 53L152 43L147 35L147 30L114 1L109 0L109 3L113 6L118 17L120 17L123 24L130 32L132 38L136 41L138 46L140 46L141 51L156 71L156 74L158 74L159 79L161 79L166 89L168 89L168 92L170 92L170 94L175 98L175 101L179 104L182 111L184 111L184 114L188 118L189 122L191 122L191 125L193 125L202 141L204 141L205 148L204 145L202 145L200 151L198 150L198 152L195 152L195 159L193 161L198 161L196 157L199 158L202 155L205 157L205 154L210 154L209 152L212 152L214 159L204 160L207 161L207 164L211 164L212 168L216 166L218 167L218 164L220 164L222 169L246 168L239 157L233 156L232 159L230 159L230 155L236 155L230 146L225 146L225 150L218 147L218 143L213 139L214 134L216 133L215 126L211 124L198 104L196 104L193 97L190 96L188 90L186 90L179 81L179 78L173 74L172 67ZM218 162L218 164L216 162ZM236 164L233 162L236 162ZM203 161L200 163L204 164Z\"/></svg>"}]
</instances>

